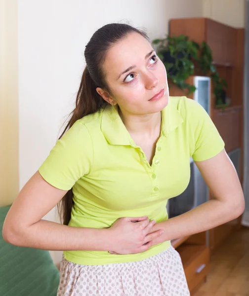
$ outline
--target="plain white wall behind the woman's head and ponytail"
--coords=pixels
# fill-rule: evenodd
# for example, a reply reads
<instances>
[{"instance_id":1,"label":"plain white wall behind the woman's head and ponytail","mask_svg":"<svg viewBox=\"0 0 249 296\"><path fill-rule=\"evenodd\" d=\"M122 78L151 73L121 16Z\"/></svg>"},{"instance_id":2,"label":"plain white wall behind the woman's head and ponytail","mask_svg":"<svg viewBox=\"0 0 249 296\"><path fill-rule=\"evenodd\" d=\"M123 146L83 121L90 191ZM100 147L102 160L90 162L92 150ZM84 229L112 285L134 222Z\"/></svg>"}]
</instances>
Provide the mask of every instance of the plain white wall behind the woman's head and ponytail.
<instances>
[{"instance_id":1,"label":"plain white wall behind the woman's head and ponytail","mask_svg":"<svg viewBox=\"0 0 249 296\"><path fill-rule=\"evenodd\" d=\"M20 188L38 170L73 109L84 47L99 27L126 19L147 28L153 39L165 37L169 18L202 12L201 0L19 0ZM46 218L54 220L54 212ZM61 252L51 254L58 263Z\"/></svg>"}]
</instances>

